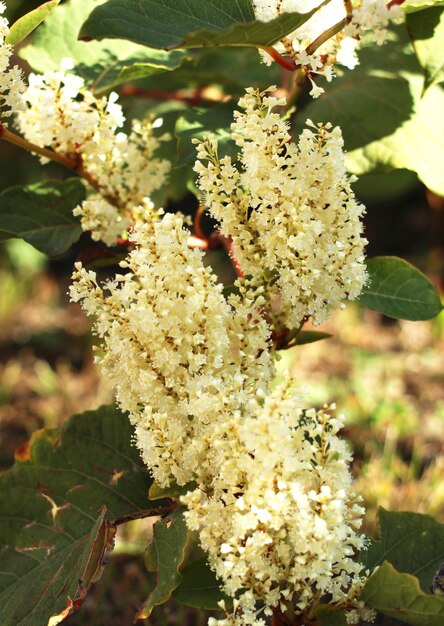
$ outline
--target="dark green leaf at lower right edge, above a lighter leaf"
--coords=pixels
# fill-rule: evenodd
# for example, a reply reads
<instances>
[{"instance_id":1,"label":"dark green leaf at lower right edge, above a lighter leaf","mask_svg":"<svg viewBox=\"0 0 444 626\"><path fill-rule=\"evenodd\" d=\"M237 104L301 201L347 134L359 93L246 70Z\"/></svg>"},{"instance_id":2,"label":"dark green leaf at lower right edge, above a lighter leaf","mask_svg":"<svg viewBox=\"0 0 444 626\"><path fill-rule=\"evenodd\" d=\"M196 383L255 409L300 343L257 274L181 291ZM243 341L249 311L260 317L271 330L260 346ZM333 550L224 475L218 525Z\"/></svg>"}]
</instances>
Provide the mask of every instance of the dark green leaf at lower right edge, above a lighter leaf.
<instances>
[{"instance_id":1,"label":"dark green leaf at lower right edge, above a lighter leaf","mask_svg":"<svg viewBox=\"0 0 444 626\"><path fill-rule=\"evenodd\" d=\"M363 553L364 566L372 570L389 561L399 572L416 576L424 591L444 562L444 524L419 513L378 512L380 539Z\"/></svg>"}]
</instances>

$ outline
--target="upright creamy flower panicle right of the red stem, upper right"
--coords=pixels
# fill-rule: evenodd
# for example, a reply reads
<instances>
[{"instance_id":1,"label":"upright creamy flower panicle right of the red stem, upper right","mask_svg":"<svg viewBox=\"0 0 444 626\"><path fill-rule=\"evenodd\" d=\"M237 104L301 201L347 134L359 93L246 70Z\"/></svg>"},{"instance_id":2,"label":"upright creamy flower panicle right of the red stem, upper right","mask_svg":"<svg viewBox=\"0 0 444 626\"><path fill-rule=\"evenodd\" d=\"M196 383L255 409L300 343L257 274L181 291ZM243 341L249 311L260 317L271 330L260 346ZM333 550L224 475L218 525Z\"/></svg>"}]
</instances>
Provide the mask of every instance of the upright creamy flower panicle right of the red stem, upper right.
<instances>
[{"instance_id":1,"label":"upright creamy flower panicle right of the red stem, upper right","mask_svg":"<svg viewBox=\"0 0 444 626\"><path fill-rule=\"evenodd\" d=\"M244 111L231 125L240 166L219 158L210 137L198 145L195 170L245 281L264 290L275 322L297 328L308 317L321 323L359 295L367 240L340 129L312 124L295 144L288 123L272 110L283 104L247 89L239 101Z\"/></svg>"}]
</instances>

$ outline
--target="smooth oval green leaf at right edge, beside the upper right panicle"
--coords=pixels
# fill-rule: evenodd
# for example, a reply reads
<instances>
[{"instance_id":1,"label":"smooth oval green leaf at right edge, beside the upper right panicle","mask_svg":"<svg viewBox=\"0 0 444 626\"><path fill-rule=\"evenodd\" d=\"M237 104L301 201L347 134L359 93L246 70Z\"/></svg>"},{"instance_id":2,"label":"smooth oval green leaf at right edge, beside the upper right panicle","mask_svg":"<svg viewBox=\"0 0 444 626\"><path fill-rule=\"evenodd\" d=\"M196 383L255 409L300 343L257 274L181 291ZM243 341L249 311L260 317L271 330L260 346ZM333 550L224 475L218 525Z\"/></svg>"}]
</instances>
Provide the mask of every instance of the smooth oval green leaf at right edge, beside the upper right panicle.
<instances>
[{"instance_id":1,"label":"smooth oval green leaf at right edge, beside the upper right panicle","mask_svg":"<svg viewBox=\"0 0 444 626\"><path fill-rule=\"evenodd\" d=\"M433 283L403 259L381 256L367 260L369 281L359 302L388 317L429 320L439 315L442 304Z\"/></svg>"}]
</instances>

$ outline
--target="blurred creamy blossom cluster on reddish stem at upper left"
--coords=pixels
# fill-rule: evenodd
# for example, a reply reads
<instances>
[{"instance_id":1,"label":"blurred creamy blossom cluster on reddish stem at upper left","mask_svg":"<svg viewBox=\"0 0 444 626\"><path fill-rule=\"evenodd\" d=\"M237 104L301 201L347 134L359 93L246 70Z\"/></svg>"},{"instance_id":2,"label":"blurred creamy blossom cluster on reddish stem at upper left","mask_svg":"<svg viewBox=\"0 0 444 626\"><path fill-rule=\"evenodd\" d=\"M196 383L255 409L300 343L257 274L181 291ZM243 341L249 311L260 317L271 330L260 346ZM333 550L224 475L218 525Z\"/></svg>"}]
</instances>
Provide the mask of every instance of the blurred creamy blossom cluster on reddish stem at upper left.
<instances>
[{"instance_id":1,"label":"blurred creamy blossom cluster on reddish stem at upper left","mask_svg":"<svg viewBox=\"0 0 444 626\"><path fill-rule=\"evenodd\" d=\"M150 195L165 182L166 160L153 158L160 139L150 121L134 121L129 135L118 132L125 118L117 94L96 98L64 59L59 71L31 74L20 131L39 146L78 160L100 187L74 213L93 239L115 243L141 214L153 213ZM45 162L45 159L42 159Z\"/></svg>"}]
</instances>

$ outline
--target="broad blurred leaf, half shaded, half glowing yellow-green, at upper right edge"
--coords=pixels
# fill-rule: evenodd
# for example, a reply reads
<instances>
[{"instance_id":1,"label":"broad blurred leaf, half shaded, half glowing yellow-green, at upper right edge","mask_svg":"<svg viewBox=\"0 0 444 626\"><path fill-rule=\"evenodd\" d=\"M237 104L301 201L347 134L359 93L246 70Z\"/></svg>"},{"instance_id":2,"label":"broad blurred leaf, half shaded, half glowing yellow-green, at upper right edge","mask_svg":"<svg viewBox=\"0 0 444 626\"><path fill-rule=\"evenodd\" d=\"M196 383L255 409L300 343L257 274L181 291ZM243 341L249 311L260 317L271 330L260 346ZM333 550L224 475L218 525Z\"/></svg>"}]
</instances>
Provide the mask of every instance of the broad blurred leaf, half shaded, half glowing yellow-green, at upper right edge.
<instances>
[{"instance_id":1,"label":"broad blurred leaf, half shaded, half glowing yellow-green, at upper right edge","mask_svg":"<svg viewBox=\"0 0 444 626\"><path fill-rule=\"evenodd\" d=\"M433 85L423 93L424 74L403 27L359 57L353 72L324 84L326 93L296 116L295 132L307 118L339 125L352 173L408 169L443 195L444 90Z\"/></svg>"}]
</instances>

